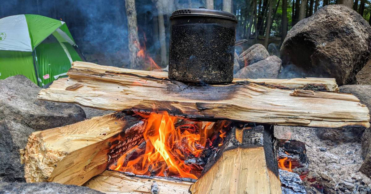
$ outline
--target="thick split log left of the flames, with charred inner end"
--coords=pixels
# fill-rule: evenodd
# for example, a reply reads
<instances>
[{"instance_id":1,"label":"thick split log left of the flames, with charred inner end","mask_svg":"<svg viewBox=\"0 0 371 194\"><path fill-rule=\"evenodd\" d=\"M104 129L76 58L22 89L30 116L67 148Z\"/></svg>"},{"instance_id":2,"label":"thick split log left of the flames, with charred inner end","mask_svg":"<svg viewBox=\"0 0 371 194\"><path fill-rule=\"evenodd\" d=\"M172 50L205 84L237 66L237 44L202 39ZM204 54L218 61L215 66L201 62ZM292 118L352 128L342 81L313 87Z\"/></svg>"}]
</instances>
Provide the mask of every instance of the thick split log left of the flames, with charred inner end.
<instances>
[{"instance_id":1,"label":"thick split log left of the flames, with charred inner end","mask_svg":"<svg viewBox=\"0 0 371 194\"><path fill-rule=\"evenodd\" d=\"M144 121L116 112L32 133L21 158L27 183L82 185L144 141Z\"/></svg>"}]
</instances>

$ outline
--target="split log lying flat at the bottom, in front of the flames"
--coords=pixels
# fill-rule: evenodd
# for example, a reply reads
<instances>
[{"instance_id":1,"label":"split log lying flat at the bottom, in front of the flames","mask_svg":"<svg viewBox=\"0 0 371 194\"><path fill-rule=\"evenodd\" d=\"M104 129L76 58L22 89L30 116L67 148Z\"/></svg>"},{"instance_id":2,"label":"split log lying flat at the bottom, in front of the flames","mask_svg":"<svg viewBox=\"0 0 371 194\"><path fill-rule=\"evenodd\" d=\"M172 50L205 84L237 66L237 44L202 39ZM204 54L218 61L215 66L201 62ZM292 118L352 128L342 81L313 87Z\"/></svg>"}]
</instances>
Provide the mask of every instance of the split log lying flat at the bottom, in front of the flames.
<instances>
[{"instance_id":1,"label":"split log lying flat at the bottom, in front of the flames","mask_svg":"<svg viewBox=\"0 0 371 194\"><path fill-rule=\"evenodd\" d=\"M180 181L166 177L128 176L119 171L106 170L91 178L83 186L107 194L141 193L190 193L193 182Z\"/></svg>"}]
</instances>

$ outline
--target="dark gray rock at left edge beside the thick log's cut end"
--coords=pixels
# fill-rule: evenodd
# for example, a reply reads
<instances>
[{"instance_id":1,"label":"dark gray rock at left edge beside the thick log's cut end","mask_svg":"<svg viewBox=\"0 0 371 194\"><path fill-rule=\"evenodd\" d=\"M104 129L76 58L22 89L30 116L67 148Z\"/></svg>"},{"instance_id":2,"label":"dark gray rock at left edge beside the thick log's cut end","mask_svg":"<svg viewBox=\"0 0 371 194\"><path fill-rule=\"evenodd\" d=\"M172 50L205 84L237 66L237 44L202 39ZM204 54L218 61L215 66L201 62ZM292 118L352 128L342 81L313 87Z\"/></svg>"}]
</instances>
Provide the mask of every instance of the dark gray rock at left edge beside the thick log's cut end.
<instances>
[{"instance_id":1,"label":"dark gray rock at left edge beside the thick log's cut end","mask_svg":"<svg viewBox=\"0 0 371 194\"><path fill-rule=\"evenodd\" d=\"M26 146L27 138L34 130L14 121L2 120L0 131L0 181L25 182L19 149Z\"/></svg>"}]
</instances>

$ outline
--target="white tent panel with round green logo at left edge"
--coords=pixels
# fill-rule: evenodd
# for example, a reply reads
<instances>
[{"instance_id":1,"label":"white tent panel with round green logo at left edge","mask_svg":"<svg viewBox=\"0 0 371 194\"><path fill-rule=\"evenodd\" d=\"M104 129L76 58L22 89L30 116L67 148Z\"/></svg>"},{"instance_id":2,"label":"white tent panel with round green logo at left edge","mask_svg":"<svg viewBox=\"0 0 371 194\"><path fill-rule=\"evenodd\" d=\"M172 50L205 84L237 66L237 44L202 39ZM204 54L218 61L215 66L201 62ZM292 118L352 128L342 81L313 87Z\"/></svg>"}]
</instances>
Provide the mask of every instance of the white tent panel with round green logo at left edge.
<instances>
[{"instance_id":1,"label":"white tent panel with round green logo at left edge","mask_svg":"<svg viewBox=\"0 0 371 194\"><path fill-rule=\"evenodd\" d=\"M24 15L0 19L0 50L32 52L30 34Z\"/></svg>"}]
</instances>

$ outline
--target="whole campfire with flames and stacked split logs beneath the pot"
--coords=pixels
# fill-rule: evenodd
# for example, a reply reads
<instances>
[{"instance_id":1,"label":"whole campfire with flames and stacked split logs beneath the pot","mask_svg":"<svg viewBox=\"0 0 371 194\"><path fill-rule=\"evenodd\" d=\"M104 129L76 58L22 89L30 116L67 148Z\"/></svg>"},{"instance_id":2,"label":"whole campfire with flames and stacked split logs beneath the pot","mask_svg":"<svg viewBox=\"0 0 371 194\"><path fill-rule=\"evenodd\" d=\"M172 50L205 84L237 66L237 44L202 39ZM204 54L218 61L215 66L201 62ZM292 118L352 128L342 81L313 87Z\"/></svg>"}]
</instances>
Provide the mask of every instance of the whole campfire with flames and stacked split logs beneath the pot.
<instances>
[{"instance_id":1,"label":"whole campfire with flames and stacked split logs beneath the pot","mask_svg":"<svg viewBox=\"0 0 371 194\"><path fill-rule=\"evenodd\" d=\"M276 149L271 124L369 126L367 108L330 78L185 84L167 72L78 61L68 76L38 98L117 112L32 133L21 150L27 182L105 193L280 193L278 168L305 163L300 146L284 140Z\"/></svg>"}]
</instances>

